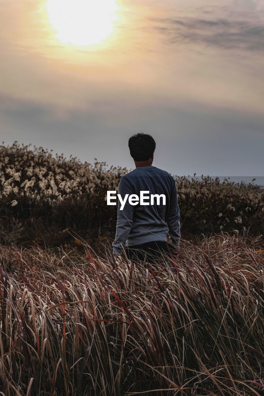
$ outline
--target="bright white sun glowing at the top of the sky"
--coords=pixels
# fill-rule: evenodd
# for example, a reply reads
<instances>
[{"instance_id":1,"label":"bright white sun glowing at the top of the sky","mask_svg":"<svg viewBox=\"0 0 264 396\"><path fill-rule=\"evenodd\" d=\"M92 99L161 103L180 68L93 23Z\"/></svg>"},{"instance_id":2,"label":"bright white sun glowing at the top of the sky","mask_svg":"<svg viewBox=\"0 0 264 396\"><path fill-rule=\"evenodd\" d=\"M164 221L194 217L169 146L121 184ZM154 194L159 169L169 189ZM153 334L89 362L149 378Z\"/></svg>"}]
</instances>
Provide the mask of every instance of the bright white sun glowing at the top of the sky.
<instances>
[{"instance_id":1,"label":"bright white sun glowing at the top of the sky","mask_svg":"<svg viewBox=\"0 0 264 396\"><path fill-rule=\"evenodd\" d=\"M112 32L117 0L47 0L55 36L76 46L98 44Z\"/></svg>"}]
</instances>

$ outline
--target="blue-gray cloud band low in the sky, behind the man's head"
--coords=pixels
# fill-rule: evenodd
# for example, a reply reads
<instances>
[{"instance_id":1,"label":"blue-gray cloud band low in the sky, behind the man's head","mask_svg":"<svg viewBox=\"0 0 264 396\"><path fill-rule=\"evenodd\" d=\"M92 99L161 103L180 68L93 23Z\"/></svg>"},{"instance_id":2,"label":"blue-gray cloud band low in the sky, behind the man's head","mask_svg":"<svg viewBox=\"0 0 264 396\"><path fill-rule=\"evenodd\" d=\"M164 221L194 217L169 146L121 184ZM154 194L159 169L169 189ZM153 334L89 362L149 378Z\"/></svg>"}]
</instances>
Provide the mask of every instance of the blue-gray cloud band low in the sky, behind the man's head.
<instances>
[{"instance_id":1,"label":"blue-gray cloud band low in the sky, behind the man's head","mask_svg":"<svg viewBox=\"0 0 264 396\"><path fill-rule=\"evenodd\" d=\"M114 109L115 108L115 109ZM0 143L32 143L54 153L133 166L128 138L144 131L157 143L155 166L178 175L260 175L264 116L214 104L119 102L84 112L12 97L0 97ZM62 114L61 114L62 112Z\"/></svg>"}]
</instances>

